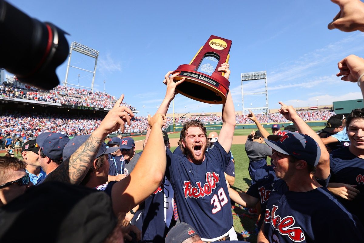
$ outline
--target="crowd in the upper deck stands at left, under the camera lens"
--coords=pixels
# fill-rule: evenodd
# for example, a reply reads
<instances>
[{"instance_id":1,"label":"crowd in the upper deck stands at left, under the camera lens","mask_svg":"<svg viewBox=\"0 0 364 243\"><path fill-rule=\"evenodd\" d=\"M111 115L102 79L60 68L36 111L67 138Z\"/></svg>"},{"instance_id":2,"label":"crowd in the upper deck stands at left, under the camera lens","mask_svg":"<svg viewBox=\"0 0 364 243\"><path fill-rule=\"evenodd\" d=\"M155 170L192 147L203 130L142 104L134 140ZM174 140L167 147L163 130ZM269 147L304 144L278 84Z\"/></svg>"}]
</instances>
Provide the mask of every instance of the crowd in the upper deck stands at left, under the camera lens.
<instances>
[{"instance_id":1,"label":"crowd in the upper deck stands at left, under the camera lens","mask_svg":"<svg viewBox=\"0 0 364 243\"><path fill-rule=\"evenodd\" d=\"M110 94L86 89L76 89L58 85L52 90L42 91L28 85L2 84L0 85L0 97L30 99L64 105L78 105L111 109L117 99ZM123 103L131 110L135 107Z\"/></svg>"}]
</instances>

